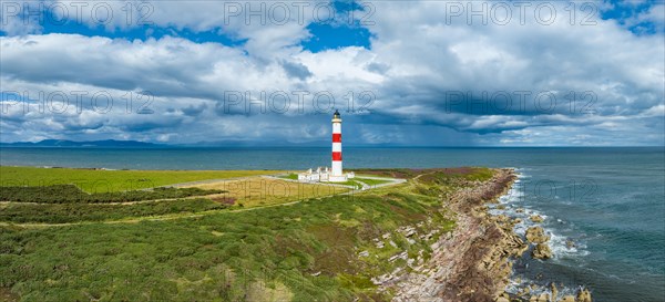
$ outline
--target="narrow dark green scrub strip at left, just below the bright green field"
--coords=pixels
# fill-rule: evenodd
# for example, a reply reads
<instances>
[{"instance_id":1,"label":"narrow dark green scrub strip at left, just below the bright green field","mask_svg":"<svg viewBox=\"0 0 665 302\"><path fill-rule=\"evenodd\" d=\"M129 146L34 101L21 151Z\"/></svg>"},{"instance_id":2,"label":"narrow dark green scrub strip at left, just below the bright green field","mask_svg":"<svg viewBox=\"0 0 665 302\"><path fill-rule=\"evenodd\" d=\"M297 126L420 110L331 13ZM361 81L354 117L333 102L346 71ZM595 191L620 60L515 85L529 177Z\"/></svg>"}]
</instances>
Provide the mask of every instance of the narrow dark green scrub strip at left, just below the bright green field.
<instances>
[{"instance_id":1,"label":"narrow dark green scrub strip at left, just below the bright green field","mask_svg":"<svg viewBox=\"0 0 665 302\"><path fill-rule=\"evenodd\" d=\"M151 190L133 190L123 192L88 194L74 185L55 185L47 187L0 187L0 201L18 202L129 202L140 200L157 200L222 194L224 190L204 190L200 188L154 188Z\"/></svg>"}]
</instances>

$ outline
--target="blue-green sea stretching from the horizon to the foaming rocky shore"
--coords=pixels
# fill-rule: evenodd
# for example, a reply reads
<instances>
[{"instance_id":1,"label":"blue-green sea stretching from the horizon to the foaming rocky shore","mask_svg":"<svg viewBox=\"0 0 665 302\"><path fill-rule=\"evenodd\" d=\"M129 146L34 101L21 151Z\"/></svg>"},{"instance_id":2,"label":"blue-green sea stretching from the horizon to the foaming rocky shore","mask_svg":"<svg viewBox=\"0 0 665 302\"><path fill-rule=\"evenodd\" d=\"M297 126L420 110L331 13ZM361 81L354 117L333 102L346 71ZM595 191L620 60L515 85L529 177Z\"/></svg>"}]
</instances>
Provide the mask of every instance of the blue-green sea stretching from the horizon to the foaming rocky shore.
<instances>
[{"instance_id":1,"label":"blue-green sea stretching from the horizon to the foaming rocky shore","mask_svg":"<svg viewBox=\"0 0 665 302\"><path fill-rule=\"evenodd\" d=\"M108 169L304 170L329 158L323 147L0 148L3 166ZM555 281L564 292L585 285L601 302L665 301L664 147L346 147L344 160L345 168L515 168L502 211L524 218L518 232L531 226L529 216L544 217L554 253L516 260L522 283Z\"/></svg>"}]
</instances>

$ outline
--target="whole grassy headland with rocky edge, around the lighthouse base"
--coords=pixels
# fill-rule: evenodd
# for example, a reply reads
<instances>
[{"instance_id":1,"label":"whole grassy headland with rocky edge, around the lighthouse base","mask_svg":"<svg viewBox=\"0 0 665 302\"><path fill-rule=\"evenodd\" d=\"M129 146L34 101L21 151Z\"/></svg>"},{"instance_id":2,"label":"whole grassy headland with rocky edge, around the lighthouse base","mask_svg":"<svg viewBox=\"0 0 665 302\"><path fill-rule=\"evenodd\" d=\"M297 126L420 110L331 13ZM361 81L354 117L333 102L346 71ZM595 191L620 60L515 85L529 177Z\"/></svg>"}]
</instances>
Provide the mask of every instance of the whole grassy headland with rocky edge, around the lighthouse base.
<instances>
[{"instance_id":1,"label":"whole grassy headland with rocky edge, around the lighthouse base","mask_svg":"<svg viewBox=\"0 0 665 302\"><path fill-rule=\"evenodd\" d=\"M534 249L489 214L511 169L0 171L7 301L590 301L504 292Z\"/></svg>"}]
</instances>

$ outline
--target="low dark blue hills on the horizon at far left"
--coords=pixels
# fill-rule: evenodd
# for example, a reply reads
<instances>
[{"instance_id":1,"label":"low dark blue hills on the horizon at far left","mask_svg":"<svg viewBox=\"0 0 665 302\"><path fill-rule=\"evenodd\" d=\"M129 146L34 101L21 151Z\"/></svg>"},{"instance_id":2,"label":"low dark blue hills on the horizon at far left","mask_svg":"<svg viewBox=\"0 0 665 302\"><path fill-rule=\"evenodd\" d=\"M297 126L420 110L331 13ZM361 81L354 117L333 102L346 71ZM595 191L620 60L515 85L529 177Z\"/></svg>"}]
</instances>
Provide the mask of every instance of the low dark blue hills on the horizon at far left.
<instances>
[{"instance_id":1,"label":"low dark blue hills on the horizon at far left","mask_svg":"<svg viewBox=\"0 0 665 302\"><path fill-rule=\"evenodd\" d=\"M44 147L44 148L58 148L58 147L81 147L81 148L155 148L166 147L167 145L160 145L153 143L144 143L136 140L91 140L91 142L74 142L66 139L44 139L41 142L17 142L17 143L0 143L1 147Z\"/></svg>"}]
</instances>

